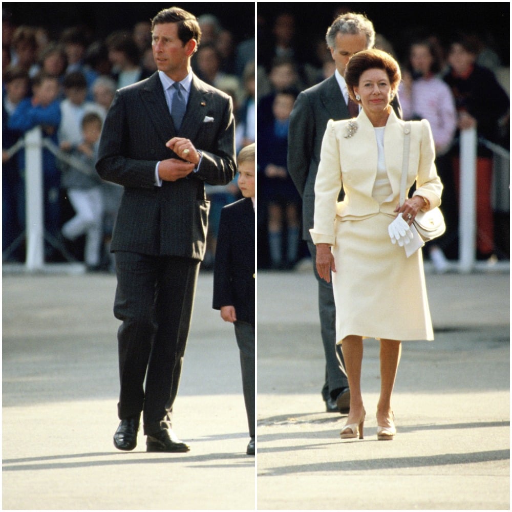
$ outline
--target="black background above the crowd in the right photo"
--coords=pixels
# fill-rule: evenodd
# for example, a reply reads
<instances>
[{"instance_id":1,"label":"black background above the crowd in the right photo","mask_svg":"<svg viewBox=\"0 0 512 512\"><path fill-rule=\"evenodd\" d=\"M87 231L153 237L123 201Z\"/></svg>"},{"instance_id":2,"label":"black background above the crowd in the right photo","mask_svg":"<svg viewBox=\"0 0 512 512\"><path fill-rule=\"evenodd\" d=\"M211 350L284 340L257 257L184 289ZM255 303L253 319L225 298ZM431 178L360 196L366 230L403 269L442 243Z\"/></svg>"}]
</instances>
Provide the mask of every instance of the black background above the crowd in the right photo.
<instances>
[{"instance_id":1,"label":"black background above the crowd in the right photo","mask_svg":"<svg viewBox=\"0 0 512 512\"><path fill-rule=\"evenodd\" d=\"M276 15L283 12L293 14L298 35L297 45L304 52L304 59L310 60L314 50L311 41L325 37L327 27L332 23L334 12L338 8L366 14L372 20L376 32L392 43L399 59L406 54L412 36L426 30L436 34L443 43L449 42L450 36L456 31L479 35L498 53L503 66L508 66L510 62L508 2L258 2L258 15L263 17L265 26L269 29ZM265 41L258 40L259 48L264 44Z\"/></svg>"}]
</instances>

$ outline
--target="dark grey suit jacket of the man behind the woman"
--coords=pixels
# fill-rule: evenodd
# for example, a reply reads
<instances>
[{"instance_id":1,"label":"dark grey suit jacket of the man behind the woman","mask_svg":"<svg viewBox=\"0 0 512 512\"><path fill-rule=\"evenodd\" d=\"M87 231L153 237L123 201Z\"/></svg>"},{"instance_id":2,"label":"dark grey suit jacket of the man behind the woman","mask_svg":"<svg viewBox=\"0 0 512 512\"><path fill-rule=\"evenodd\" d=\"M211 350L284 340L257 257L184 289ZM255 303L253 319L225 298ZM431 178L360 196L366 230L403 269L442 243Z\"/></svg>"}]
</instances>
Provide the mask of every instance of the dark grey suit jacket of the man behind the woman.
<instances>
[{"instance_id":1,"label":"dark grey suit jacket of the man behind the woman","mask_svg":"<svg viewBox=\"0 0 512 512\"><path fill-rule=\"evenodd\" d=\"M393 108L399 117L398 99ZM315 204L315 179L320 150L329 119L350 117L335 75L298 95L290 116L288 131L288 172L302 197L303 239L311 241ZM341 198L340 198L341 199Z\"/></svg>"}]
</instances>

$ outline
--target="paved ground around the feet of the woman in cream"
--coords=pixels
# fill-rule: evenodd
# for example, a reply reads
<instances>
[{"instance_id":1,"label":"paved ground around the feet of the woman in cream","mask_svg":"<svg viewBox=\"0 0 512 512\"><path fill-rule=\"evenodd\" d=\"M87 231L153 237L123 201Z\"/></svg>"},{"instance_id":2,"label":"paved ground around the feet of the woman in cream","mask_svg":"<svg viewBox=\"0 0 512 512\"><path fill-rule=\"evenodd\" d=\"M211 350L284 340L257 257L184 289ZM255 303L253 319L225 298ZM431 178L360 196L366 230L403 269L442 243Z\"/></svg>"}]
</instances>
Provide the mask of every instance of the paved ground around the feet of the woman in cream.
<instances>
[{"instance_id":1,"label":"paved ground around the feet of the woman in cream","mask_svg":"<svg viewBox=\"0 0 512 512\"><path fill-rule=\"evenodd\" d=\"M403 344L398 434L377 442L378 345L365 342L364 440L323 412L315 281L258 276L260 509L510 509L508 274L428 275L436 339Z\"/></svg>"}]
</instances>

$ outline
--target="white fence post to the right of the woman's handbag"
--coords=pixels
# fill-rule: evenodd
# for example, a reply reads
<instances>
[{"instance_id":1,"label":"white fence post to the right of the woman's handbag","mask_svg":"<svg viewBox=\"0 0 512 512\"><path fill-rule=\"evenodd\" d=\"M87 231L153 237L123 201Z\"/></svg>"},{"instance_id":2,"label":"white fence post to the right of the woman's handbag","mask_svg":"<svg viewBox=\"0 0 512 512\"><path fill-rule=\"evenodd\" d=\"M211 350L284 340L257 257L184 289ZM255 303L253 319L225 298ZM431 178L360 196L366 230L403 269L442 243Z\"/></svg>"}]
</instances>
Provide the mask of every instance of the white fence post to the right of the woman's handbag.
<instances>
[{"instance_id":1,"label":"white fence post to the right of the woman's handbag","mask_svg":"<svg viewBox=\"0 0 512 512\"><path fill-rule=\"evenodd\" d=\"M471 272L476 248L476 128L460 132L459 268Z\"/></svg>"}]
</instances>

